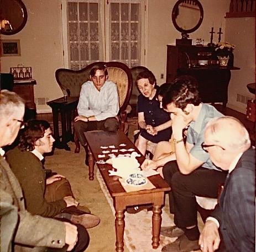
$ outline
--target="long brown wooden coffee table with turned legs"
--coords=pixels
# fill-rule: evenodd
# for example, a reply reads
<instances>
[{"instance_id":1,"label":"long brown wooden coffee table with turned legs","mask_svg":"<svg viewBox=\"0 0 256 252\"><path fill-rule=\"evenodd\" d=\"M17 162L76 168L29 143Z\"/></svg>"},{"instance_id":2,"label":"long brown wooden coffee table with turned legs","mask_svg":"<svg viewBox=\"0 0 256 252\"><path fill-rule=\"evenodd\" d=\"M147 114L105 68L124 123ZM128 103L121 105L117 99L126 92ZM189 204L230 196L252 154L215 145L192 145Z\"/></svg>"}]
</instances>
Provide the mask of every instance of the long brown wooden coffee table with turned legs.
<instances>
[{"instance_id":1,"label":"long brown wooden coffee table with turned legs","mask_svg":"<svg viewBox=\"0 0 256 252\"><path fill-rule=\"evenodd\" d=\"M89 179L93 180L93 166L95 160L100 160L98 154L102 154L101 146L114 145L116 148L133 148L135 151L138 149L124 135L122 131L106 132L106 131L88 131L85 132L85 137L88 143L88 162L89 162ZM119 147L119 144L126 144L125 147ZM124 152L126 153L126 152ZM122 152L122 154L124 154ZM129 152L130 153L130 152ZM119 154L114 153L114 154ZM107 154L106 154L107 156ZM143 163L144 157L138 157L137 160L140 164ZM165 182L160 175L150 176L148 179L155 186L155 189L126 192L119 182L117 176L109 176L108 170L113 169L109 164L97 164L98 169L101 172L103 180L108 188L109 194L113 198L114 209L116 210L116 251L123 251L123 234L124 234L124 211L128 206L137 206L144 204L153 204L153 216L152 216L152 246L154 249L159 246L159 234L161 227L161 207L164 205L165 192L170 191L169 185Z\"/></svg>"}]
</instances>

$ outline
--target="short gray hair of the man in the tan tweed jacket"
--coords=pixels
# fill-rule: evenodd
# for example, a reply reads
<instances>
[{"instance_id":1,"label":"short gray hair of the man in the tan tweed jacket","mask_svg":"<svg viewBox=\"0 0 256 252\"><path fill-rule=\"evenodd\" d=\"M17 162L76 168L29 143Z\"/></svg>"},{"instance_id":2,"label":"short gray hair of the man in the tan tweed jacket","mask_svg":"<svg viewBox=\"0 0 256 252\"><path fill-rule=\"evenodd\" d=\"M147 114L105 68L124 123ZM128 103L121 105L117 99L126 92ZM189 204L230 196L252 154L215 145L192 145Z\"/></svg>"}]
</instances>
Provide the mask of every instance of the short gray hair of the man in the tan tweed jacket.
<instances>
[{"instance_id":1,"label":"short gray hair of the man in the tan tweed jacket","mask_svg":"<svg viewBox=\"0 0 256 252\"><path fill-rule=\"evenodd\" d=\"M24 100L16 93L1 90L0 91L0 118L8 119L11 116L19 115L25 108ZM22 115L23 116L23 115Z\"/></svg>"}]
</instances>

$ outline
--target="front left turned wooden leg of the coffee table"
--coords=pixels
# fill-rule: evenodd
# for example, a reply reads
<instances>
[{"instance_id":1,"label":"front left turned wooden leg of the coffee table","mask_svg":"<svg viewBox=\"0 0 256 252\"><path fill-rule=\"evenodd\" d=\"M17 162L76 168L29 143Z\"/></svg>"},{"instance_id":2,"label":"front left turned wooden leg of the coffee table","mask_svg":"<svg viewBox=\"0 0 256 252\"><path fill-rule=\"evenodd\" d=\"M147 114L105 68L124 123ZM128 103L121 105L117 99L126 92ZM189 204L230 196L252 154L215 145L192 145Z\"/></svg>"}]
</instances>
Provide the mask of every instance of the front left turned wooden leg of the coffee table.
<instances>
[{"instance_id":1,"label":"front left turned wooden leg of the coffee table","mask_svg":"<svg viewBox=\"0 0 256 252\"><path fill-rule=\"evenodd\" d=\"M116 251L123 252L123 234L124 234L124 210L116 210Z\"/></svg>"}]
</instances>

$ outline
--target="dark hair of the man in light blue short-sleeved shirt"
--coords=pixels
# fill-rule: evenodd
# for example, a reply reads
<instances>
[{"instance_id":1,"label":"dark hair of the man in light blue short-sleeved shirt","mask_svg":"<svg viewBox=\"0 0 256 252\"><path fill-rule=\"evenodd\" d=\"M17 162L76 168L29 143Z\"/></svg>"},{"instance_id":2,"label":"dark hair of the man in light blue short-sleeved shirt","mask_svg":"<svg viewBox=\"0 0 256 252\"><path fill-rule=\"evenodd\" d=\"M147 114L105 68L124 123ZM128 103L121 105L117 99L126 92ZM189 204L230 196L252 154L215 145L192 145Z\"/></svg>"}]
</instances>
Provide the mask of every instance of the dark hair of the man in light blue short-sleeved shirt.
<instances>
[{"instance_id":1,"label":"dark hair of the man in light blue short-sleeved shirt","mask_svg":"<svg viewBox=\"0 0 256 252\"><path fill-rule=\"evenodd\" d=\"M198 106L201 99L196 81L189 78L177 78L163 97L163 108L166 109L170 103L174 103L177 108L182 110L186 108L187 104Z\"/></svg>"}]
</instances>

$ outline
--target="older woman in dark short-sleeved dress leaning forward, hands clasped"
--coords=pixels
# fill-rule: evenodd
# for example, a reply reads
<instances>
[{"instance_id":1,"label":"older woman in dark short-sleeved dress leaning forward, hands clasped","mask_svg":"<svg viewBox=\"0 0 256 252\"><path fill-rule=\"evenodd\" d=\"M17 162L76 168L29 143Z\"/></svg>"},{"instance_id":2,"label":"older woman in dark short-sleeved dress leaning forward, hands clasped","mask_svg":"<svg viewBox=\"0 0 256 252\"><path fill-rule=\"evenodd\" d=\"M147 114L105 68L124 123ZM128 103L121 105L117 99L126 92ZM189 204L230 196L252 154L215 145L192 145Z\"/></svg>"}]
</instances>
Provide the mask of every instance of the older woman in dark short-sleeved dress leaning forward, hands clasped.
<instances>
[{"instance_id":1,"label":"older woman in dark short-sleeved dress leaning forward, hands clasped","mask_svg":"<svg viewBox=\"0 0 256 252\"><path fill-rule=\"evenodd\" d=\"M159 87L152 72L140 72L136 79L140 91L138 97L139 137L135 146L145 155L147 142L158 143L171 138L171 120L168 112L160 108L158 101Z\"/></svg>"}]
</instances>

